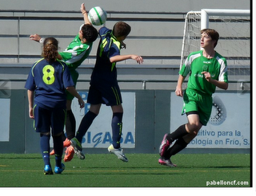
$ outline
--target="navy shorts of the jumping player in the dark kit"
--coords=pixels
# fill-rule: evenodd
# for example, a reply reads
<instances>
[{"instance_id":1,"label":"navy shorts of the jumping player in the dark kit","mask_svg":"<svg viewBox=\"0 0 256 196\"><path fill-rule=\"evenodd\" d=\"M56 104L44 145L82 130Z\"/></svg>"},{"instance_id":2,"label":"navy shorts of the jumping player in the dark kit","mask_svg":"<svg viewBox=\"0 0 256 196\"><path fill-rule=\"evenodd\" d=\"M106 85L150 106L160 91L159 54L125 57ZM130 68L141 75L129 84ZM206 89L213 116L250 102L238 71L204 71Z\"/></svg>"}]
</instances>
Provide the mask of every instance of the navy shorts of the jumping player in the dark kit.
<instances>
[{"instance_id":1,"label":"navy shorts of the jumping player in the dark kit","mask_svg":"<svg viewBox=\"0 0 256 196\"><path fill-rule=\"evenodd\" d=\"M107 106L122 104L122 96L118 84L114 86L91 84L87 103L106 104Z\"/></svg>"}]
</instances>

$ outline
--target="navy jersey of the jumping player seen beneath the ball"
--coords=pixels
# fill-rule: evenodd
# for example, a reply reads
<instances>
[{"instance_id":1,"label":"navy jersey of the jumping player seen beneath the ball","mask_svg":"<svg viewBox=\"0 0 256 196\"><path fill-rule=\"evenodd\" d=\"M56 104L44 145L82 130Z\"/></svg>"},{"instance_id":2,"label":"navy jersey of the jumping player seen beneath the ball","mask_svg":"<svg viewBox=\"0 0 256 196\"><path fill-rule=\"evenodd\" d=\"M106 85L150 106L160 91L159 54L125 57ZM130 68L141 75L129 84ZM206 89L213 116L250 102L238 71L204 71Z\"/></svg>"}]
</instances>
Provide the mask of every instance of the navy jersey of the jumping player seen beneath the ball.
<instances>
[{"instance_id":1,"label":"navy jersey of the jumping player seen beneath the ball","mask_svg":"<svg viewBox=\"0 0 256 196\"><path fill-rule=\"evenodd\" d=\"M98 31L101 40L98 45L97 59L91 76L91 84L117 83L116 63L110 57L120 55L120 42L114 37L112 30L102 27Z\"/></svg>"}]
</instances>

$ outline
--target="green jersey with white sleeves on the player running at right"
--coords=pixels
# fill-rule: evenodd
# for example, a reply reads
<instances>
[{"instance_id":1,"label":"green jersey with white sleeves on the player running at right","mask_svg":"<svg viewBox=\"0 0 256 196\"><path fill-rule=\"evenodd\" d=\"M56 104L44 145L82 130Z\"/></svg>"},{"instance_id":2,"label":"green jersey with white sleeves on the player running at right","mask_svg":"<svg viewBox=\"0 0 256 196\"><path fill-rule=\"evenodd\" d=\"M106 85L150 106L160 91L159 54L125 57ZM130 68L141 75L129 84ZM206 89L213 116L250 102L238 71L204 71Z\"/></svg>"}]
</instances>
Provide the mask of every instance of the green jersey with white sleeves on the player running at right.
<instances>
[{"instance_id":1,"label":"green jersey with white sleeves on the player running at right","mask_svg":"<svg viewBox=\"0 0 256 196\"><path fill-rule=\"evenodd\" d=\"M202 72L209 72L214 80L228 82L226 59L215 52L214 58L206 58L202 50L190 53L179 74L187 76L190 73L187 88L201 95L212 95L216 86L208 82Z\"/></svg>"}]
</instances>

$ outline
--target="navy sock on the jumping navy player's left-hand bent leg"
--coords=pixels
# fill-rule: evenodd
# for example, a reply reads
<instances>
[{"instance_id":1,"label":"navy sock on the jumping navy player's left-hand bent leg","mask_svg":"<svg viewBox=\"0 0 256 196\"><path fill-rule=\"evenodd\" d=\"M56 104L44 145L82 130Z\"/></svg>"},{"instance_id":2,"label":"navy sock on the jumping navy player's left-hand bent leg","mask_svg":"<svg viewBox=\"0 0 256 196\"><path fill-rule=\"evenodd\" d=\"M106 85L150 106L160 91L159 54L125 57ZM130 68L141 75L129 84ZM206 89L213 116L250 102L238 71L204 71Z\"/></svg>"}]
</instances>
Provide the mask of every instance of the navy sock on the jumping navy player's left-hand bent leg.
<instances>
[{"instance_id":1,"label":"navy sock on the jumping navy player's left-hand bent leg","mask_svg":"<svg viewBox=\"0 0 256 196\"><path fill-rule=\"evenodd\" d=\"M85 116L83 116L80 126L77 131L77 135L75 136L80 143L82 143L82 137L86 135L86 131L90 127L91 123L93 123L96 118L96 114L94 112L87 112Z\"/></svg>"}]
</instances>

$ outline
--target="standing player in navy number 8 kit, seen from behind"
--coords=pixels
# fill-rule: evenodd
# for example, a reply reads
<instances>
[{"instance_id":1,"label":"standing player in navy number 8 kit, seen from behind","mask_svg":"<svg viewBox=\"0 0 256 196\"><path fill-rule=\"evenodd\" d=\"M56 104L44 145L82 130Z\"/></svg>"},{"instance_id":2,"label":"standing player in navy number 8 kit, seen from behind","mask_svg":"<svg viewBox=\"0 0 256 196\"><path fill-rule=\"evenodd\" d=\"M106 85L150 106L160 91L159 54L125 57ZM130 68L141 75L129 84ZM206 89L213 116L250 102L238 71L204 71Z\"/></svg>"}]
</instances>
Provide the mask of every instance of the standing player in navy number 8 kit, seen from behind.
<instances>
[{"instance_id":1,"label":"standing player in navy number 8 kit, seen from behind","mask_svg":"<svg viewBox=\"0 0 256 196\"><path fill-rule=\"evenodd\" d=\"M40 133L44 174L53 174L50 165L50 133L54 140L54 172L61 174L65 169L62 163L62 131L66 120L66 90L78 98L81 108L84 107L84 102L74 88L68 67L57 59L58 41L54 37L45 39L42 57L32 66L25 84L29 115L34 119L35 131Z\"/></svg>"}]
</instances>

